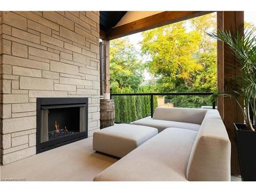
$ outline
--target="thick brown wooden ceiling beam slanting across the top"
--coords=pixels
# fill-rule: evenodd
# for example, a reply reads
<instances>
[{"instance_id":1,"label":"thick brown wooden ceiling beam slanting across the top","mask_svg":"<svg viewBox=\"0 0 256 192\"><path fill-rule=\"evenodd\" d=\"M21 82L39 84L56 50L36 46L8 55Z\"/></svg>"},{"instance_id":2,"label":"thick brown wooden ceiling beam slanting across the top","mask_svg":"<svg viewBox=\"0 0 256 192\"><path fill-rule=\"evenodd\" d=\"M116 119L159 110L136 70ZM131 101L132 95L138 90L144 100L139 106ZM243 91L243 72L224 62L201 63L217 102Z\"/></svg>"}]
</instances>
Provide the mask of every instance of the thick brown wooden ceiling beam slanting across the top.
<instances>
[{"instance_id":1,"label":"thick brown wooden ceiling beam slanting across the top","mask_svg":"<svg viewBox=\"0 0 256 192\"><path fill-rule=\"evenodd\" d=\"M181 22L189 18L212 13L214 11L164 11L151 15L134 22L127 23L106 31L106 38L109 40L131 35L148 29L161 27L168 24Z\"/></svg>"}]
</instances>

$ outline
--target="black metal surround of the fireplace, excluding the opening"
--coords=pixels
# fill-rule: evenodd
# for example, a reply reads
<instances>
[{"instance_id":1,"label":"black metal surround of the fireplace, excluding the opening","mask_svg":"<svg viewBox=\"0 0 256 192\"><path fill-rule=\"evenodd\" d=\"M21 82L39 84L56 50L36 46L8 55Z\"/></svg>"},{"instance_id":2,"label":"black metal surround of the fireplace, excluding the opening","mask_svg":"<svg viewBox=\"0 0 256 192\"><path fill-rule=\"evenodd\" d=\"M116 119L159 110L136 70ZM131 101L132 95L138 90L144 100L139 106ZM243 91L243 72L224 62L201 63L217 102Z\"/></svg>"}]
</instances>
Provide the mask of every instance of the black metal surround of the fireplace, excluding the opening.
<instances>
[{"instance_id":1,"label":"black metal surround of the fireplace, excluding the opening","mask_svg":"<svg viewBox=\"0 0 256 192\"><path fill-rule=\"evenodd\" d=\"M74 106L85 106L86 107L86 123L85 130L81 133L74 133L72 135L68 135L65 137L53 139L50 141L46 141L44 143L40 143L40 126L41 126L41 108L44 106L48 106L48 108L57 108L66 107L71 108ZM81 139L88 138L88 98L87 97L61 97L61 98L36 98L36 154L51 150L53 148L66 145Z\"/></svg>"}]
</instances>

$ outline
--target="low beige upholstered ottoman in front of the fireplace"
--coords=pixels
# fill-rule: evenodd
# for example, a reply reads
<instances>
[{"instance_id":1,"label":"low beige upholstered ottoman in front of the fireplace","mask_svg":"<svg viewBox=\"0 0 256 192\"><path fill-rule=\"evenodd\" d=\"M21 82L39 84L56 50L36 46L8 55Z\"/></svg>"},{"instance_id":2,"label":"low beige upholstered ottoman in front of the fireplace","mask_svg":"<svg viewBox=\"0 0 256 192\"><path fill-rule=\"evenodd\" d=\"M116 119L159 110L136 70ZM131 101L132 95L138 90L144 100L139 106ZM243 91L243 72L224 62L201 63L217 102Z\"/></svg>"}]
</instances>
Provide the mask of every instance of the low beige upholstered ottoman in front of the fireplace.
<instances>
[{"instance_id":1,"label":"low beige upholstered ottoman in front of the fireplace","mask_svg":"<svg viewBox=\"0 0 256 192\"><path fill-rule=\"evenodd\" d=\"M93 150L122 158L157 134L150 126L116 124L93 133Z\"/></svg>"}]
</instances>

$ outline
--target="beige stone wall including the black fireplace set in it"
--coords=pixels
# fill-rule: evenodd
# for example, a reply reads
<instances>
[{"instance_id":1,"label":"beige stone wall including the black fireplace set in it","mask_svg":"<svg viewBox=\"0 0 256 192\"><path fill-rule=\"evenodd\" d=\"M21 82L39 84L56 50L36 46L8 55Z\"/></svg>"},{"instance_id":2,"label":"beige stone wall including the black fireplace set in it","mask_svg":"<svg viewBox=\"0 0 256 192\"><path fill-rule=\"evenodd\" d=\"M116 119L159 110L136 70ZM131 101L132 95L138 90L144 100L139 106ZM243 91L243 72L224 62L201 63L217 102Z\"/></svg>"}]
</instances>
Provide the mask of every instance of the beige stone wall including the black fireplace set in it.
<instances>
[{"instance_id":1,"label":"beige stone wall including the black fireplace set in it","mask_svg":"<svg viewBox=\"0 0 256 192\"><path fill-rule=\"evenodd\" d=\"M1 163L46 151L53 141L59 146L91 137L100 126L99 12L0 11L0 16ZM38 98L67 103L42 104L38 111ZM80 119L81 113L88 118ZM44 134L38 131L39 116Z\"/></svg>"}]
</instances>

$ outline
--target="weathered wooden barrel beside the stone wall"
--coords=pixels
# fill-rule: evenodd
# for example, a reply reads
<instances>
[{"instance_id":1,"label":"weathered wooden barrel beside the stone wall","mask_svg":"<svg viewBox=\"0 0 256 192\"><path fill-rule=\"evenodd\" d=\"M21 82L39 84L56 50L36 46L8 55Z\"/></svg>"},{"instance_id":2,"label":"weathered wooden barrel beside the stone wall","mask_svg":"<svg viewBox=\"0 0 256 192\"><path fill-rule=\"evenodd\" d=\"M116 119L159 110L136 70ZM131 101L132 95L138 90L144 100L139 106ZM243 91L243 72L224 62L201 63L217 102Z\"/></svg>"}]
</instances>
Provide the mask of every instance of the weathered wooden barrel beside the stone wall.
<instances>
[{"instance_id":1,"label":"weathered wooden barrel beside the stone wall","mask_svg":"<svg viewBox=\"0 0 256 192\"><path fill-rule=\"evenodd\" d=\"M100 129L114 125L115 102L113 99L100 99Z\"/></svg>"}]
</instances>

